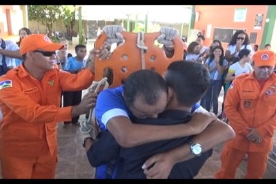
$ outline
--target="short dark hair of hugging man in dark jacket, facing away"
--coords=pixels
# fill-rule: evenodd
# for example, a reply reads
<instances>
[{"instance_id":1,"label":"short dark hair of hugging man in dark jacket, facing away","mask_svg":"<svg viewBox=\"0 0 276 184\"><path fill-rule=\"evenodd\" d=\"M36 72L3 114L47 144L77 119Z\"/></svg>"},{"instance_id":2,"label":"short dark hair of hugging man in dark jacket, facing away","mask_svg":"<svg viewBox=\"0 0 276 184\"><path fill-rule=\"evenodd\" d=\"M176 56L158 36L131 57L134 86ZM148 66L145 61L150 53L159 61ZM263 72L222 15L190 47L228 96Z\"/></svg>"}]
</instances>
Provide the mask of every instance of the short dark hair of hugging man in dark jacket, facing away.
<instances>
[{"instance_id":1,"label":"short dark hair of hugging man in dark jacket, facing away","mask_svg":"<svg viewBox=\"0 0 276 184\"><path fill-rule=\"evenodd\" d=\"M178 104L190 108L206 93L210 74L201 63L175 61L168 66L165 81L175 92Z\"/></svg>"}]
</instances>

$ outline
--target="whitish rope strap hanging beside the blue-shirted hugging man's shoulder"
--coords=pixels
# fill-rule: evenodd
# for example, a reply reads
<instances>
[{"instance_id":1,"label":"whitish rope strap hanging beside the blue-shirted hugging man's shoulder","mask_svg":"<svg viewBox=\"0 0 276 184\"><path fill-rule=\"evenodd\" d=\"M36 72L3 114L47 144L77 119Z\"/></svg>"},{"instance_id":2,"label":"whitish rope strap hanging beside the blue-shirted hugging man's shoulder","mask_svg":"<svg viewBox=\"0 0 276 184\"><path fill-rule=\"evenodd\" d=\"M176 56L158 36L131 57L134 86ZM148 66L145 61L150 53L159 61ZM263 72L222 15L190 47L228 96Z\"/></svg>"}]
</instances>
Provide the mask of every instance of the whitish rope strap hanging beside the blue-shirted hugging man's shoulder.
<instances>
[{"instance_id":1,"label":"whitish rope strap hanging beside the blue-shirted hugging man's shoulder","mask_svg":"<svg viewBox=\"0 0 276 184\"><path fill-rule=\"evenodd\" d=\"M93 81L90 85L88 92L95 92L99 91L99 88L103 85L103 90L106 90L109 86L108 78L104 77L101 81ZM89 117L85 121L81 121L80 131L83 134L89 134L92 139L96 139L98 130L95 130L98 127L97 121L95 119L95 108L90 109Z\"/></svg>"}]
</instances>

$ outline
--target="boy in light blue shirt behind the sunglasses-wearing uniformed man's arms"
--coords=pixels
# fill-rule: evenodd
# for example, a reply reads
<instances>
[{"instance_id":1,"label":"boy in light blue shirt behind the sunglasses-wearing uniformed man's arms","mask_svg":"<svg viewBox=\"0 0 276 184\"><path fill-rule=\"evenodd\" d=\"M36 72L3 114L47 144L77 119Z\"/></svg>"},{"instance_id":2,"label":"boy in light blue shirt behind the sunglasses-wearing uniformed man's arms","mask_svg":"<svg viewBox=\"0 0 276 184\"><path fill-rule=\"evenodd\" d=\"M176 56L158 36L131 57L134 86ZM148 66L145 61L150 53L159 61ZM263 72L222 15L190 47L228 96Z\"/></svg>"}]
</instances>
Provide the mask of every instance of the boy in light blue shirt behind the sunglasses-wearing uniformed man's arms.
<instances>
[{"instance_id":1,"label":"boy in light blue shirt behind the sunglasses-wearing uniformed man's arms","mask_svg":"<svg viewBox=\"0 0 276 184\"><path fill-rule=\"evenodd\" d=\"M75 52L76 57L70 57L66 61L66 66L63 70L70 72L72 74L77 74L80 70L86 67L86 46L85 45L76 45ZM63 92L63 107L78 105L81 102L82 91L75 92ZM79 125L79 116L72 118L71 121L64 121L64 125Z\"/></svg>"}]
</instances>

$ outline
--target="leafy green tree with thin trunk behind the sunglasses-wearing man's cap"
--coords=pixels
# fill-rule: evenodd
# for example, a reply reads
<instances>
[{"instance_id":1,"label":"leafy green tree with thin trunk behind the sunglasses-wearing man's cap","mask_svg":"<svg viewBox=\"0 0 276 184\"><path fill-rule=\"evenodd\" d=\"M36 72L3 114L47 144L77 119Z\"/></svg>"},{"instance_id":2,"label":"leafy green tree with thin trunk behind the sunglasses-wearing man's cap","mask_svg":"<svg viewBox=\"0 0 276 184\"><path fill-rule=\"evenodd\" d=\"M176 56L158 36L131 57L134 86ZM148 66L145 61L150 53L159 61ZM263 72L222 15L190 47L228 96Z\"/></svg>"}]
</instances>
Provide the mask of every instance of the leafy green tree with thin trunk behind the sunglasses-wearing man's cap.
<instances>
[{"instance_id":1,"label":"leafy green tree with thin trunk behind the sunglasses-wearing man's cap","mask_svg":"<svg viewBox=\"0 0 276 184\"><path fill-rule=\"evenodd\" d=\"M52 27L55 21L59 19L61 15L61 6L42 6L42 5L30 5L28 6L28 18L30 20L38 21L43 25L46 25L48 32L52 36Z\"/></svg>"}]
</instances>

